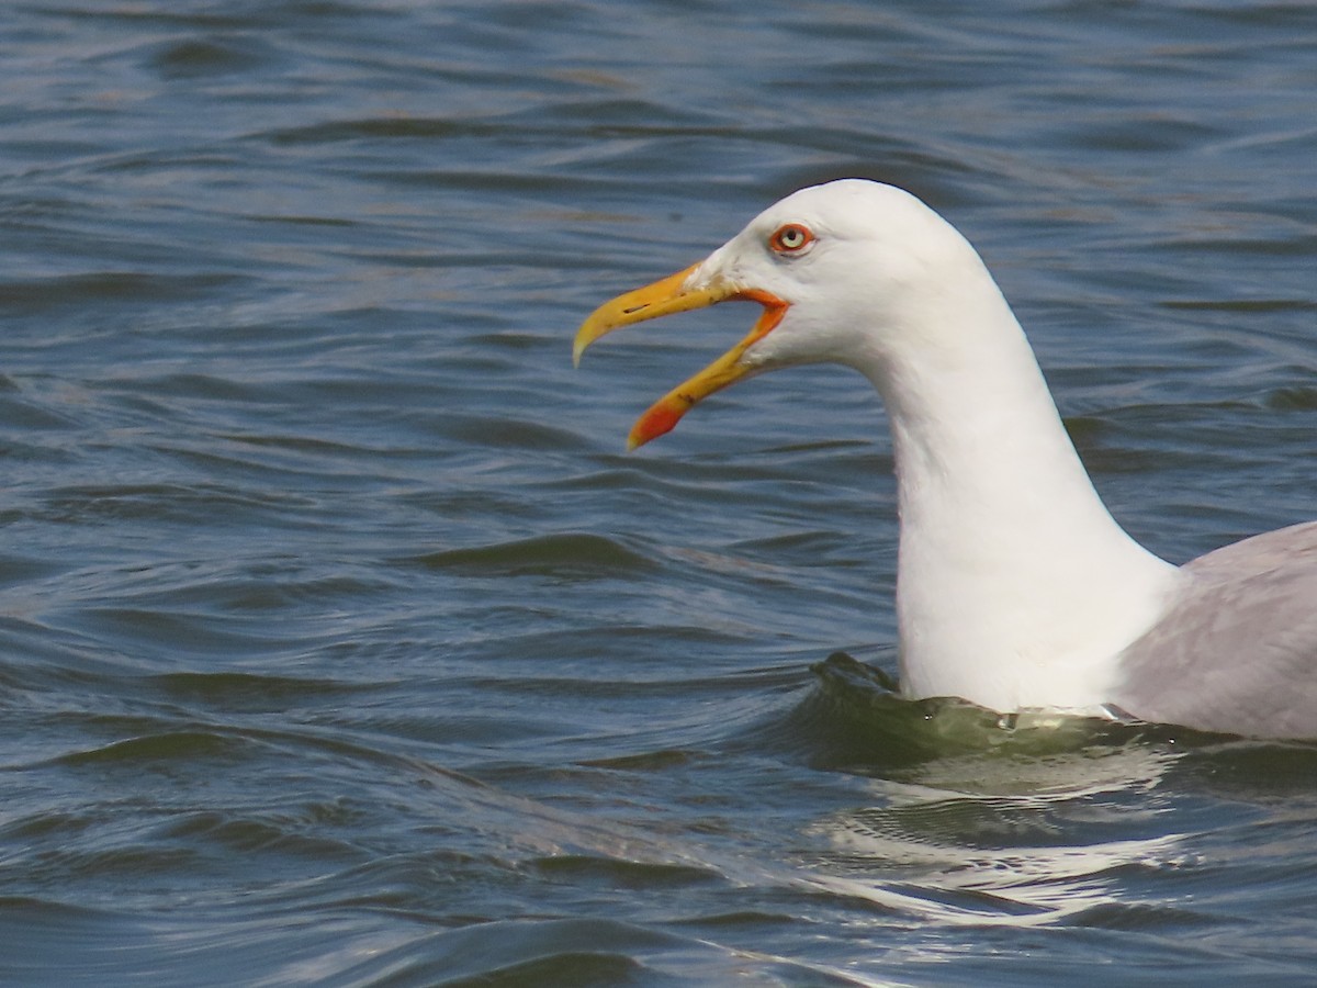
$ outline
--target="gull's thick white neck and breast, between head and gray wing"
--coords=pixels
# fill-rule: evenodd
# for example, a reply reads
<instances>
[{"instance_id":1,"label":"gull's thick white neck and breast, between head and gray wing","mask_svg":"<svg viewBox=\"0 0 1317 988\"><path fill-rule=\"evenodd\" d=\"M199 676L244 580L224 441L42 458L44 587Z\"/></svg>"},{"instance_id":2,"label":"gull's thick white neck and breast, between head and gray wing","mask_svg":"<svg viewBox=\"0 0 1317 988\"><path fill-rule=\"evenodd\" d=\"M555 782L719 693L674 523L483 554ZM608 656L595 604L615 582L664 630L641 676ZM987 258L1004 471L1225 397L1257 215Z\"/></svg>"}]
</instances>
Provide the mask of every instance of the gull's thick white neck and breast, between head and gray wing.
<instances>
[{"instance_id":1,"label":"gull's thick white neck and breast, between head and gray wing","mask_svg":"<svg viewBox=\"0 0 1317 988\"><path fill-rule=\"evenodd\" d=\"M1000 711L1096 711L1176 568L1112 519L1023 331L975 256L856 361L882 394L898 480L902 689ZM890 339L892 336L897 339Z\"/></svg>"}]
</instances>

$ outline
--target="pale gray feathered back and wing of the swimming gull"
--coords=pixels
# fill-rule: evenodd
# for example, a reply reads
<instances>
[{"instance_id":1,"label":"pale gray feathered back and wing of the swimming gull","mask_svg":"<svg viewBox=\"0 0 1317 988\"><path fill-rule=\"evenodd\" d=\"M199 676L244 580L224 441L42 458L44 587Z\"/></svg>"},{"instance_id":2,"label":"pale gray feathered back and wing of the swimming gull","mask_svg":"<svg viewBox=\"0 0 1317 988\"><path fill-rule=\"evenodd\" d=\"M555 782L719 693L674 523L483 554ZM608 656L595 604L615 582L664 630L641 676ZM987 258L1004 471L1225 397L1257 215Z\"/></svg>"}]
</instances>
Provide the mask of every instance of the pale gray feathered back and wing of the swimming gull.
<instances>
[{"instance_id":1,"label":"pale gray feathered back and wing of the swimming gull","mask_svg":"<svg viewBox=\"0 0 1317 988\"><path fill-rule=\"evenodd\" d=\"M1188 563L1171 609L1121 655L1113 701L1141 721L1317 738L1317 522Z\"/></svg>"}]
</instances>

